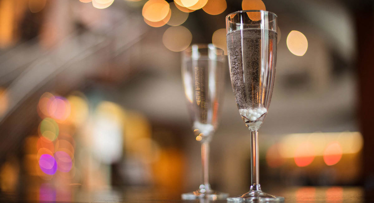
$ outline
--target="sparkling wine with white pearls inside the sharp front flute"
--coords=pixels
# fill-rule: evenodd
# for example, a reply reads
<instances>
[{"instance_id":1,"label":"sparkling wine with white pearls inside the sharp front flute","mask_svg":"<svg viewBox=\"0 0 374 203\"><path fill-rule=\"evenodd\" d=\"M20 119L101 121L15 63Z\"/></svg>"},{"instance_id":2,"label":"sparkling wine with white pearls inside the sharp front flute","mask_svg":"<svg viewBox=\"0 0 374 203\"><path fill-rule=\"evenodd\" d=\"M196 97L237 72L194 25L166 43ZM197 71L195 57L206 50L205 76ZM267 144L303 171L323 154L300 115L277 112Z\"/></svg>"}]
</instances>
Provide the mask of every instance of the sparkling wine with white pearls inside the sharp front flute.
<instances>
[{"instance_id":1,"label":"sparkling wine with white pearls inside the sharp front flute","mask_svg":"<svg viewBox=\"0 0 374 203\"><path fill-rule=\"evenodd\" d=\"M239 113L250 130L260 128L269 108L276 43L277 33L272 30L248 28L227 34L232 88Z\"/></svg>"}]
</instances>

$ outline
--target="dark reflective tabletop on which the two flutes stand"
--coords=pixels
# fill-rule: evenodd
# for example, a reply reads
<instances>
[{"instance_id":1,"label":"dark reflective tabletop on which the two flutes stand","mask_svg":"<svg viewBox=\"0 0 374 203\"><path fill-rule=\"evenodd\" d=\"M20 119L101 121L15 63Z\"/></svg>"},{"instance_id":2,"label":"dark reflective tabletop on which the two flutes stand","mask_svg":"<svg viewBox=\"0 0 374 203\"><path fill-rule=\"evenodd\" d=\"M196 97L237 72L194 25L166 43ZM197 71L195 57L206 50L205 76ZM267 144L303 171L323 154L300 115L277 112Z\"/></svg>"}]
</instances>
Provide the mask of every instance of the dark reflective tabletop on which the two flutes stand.
<instances>
[{"instance_id":1,"label":"dark reflective tabletop on which the two flutes stand","mask_svg":"<svg viewBox=\"0 0 374 203\"><path fill-rule=\"evenodd\" d=\"M364 200L361 187L290 187L285 190L266 191L285 197L285 202L370 202ZM226 200L181 200L175 193L150 188L126 188L121 190L85 191L74 188L59 191L58 188L42 188L24 193L1 193L1 202L131 202L131 203L222 203Z\"/></svg>"}]
</instances>

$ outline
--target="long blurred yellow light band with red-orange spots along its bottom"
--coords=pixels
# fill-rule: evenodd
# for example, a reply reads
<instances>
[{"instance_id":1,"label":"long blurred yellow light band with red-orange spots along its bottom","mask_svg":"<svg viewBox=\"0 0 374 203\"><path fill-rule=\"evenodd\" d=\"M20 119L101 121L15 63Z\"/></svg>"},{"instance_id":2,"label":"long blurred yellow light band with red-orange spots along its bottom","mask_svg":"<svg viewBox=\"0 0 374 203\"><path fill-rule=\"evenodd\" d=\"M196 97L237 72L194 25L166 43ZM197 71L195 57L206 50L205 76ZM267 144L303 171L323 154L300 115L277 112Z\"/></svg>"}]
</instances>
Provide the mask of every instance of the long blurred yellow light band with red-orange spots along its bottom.
<instances>
[{"instance_id":1,"label":"long blurred yellow light band with red-orange spots along its bottom","mask_svg":"<svg viewBox=\"0 0 374 203\"><path fill-rule=\"evenodd\" d=\"M276 168L285 159L292 158L296 166L306 167L315 157L323 157L324 163L332 166L339 163L344 154L358 153L362 146L359 132L289 134L267 149L266 161L268 166Z\"/></svg>"}]
</instances>

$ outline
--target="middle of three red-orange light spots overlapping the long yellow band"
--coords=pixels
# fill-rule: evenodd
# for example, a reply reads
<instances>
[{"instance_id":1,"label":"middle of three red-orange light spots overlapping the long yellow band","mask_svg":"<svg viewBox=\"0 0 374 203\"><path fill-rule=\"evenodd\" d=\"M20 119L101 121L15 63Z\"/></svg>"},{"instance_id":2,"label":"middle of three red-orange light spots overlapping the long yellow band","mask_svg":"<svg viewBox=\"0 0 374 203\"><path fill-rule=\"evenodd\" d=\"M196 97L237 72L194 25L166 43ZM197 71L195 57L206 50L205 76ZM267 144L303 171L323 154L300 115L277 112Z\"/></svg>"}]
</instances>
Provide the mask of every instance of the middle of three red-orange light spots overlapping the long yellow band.
<instances>
[{"instance_id":1,"label":"middle of three red-orange light spots overlapping the long yellow band","mask_svg":"<svg viewBox=\"0 0 374 203\"><path fill-rule=\"evenodd\" d=\"M313 162L314 157L313 146L309 142L304 142L296 148L294 161L298 167L305 167Z\"/></svg>"}]
</instances>

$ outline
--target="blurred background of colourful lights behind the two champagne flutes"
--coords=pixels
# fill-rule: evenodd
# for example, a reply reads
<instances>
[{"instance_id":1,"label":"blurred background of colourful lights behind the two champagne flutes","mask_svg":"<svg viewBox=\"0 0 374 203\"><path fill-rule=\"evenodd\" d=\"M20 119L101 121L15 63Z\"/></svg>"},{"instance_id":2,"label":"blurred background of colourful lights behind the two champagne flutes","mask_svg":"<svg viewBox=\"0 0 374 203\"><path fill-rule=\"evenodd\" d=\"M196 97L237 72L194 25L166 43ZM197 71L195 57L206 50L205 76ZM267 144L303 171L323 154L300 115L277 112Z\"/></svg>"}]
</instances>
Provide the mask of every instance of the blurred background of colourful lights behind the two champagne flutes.
<instances>
[{"instance_id":1,"label":"blurred background of colourful lights behind the two champagne flutes","mask_svg":"<svg viewBox=\"0 0 374 203\"><path fill-rule=\"evenodd\" d=\"M248 9L276 13L279 25L263 188L373 189L372 1L0 0L1 193L71 201L196 190L200 143L180 51L226 49L225 16ZM228 68L224 82L210 181L234 196L249 189L250 137Z\"/></svg>"}]
</instances>

